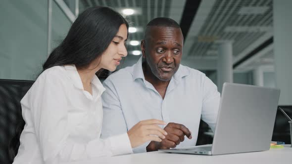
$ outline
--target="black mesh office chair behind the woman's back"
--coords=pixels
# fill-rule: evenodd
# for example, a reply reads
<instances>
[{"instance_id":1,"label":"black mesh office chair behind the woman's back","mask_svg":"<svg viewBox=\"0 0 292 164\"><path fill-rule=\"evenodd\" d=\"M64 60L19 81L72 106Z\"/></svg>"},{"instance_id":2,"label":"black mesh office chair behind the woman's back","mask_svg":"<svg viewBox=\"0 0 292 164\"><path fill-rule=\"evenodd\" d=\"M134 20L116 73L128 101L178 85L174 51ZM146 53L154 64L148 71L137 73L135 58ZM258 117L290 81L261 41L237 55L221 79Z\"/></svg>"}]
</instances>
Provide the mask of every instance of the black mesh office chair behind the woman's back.
<instances>
[{"instance_id":1,"label":"black mesh office chair behind the woman's back","mask_svg":"<svg viewBox=\"0 0 292 164\"><path fill-rule=\"evenodd\" d=\"M23 123L20 100L32 86L33 81L0 79L0 164L11 164L8 145L15 137L16 127ZM19 145L18 145L19 146Z\"/></svg>"}]
</instances>

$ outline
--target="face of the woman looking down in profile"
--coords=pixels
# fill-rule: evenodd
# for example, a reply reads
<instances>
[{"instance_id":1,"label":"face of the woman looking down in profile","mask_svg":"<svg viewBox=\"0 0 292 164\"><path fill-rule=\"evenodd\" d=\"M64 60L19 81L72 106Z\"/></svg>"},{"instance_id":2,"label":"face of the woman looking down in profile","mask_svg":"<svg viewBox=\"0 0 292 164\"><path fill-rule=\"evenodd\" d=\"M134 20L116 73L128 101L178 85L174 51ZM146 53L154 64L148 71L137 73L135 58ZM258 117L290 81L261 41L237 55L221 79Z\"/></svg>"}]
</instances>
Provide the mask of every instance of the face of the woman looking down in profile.
<instances>
[{"instance_id":1,"label":"face of the woman looking down in profile","mask_svg":"<svg viewBox=\"0 0 292 164\"><path fill-rule=\"evenodd\" d=\"M112 39L109 46L102 53L100 60L101 68L109 71L114 71L120 64L122 57L127 56L127 49L125 46L127 34L127 26L125 24L122 24L116 36Z\"/></svg>"}]
</instances>

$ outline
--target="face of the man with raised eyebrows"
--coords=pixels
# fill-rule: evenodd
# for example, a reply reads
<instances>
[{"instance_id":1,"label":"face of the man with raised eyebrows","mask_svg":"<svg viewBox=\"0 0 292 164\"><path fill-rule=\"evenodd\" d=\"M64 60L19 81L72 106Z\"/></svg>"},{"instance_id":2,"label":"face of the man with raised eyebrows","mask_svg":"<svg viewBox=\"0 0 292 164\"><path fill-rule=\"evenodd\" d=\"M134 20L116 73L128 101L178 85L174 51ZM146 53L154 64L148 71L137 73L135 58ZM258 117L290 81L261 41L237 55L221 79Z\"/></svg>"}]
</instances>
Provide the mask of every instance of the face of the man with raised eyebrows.
<instances>
[{"instance_id":1,"label":"face of the man with raised eyebrows","mask_svg":"<svg viewBox=\"0 0 292 164\"><path fill-rule=\"evenodd\" d=\"M150 27L142 41L143 57L152 74L161 81L170 81L179 69L184 38L180 28Z\"/></svg>"}]
</instances>

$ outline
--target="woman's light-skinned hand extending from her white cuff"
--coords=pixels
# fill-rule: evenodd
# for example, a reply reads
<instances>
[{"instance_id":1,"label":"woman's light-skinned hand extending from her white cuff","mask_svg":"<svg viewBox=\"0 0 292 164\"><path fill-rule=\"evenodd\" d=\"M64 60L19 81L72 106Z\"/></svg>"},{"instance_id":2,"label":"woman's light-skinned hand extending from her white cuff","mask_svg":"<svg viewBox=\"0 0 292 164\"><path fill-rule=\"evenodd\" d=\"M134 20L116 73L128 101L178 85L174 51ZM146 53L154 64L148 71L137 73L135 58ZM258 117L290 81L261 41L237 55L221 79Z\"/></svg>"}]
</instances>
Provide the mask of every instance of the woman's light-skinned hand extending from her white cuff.
<instances>
[{"instance_id":1,"label":"woman's light-skinned hand extending from her white cuff","mask_svg":"<svg viewBox=\"0 0 292 164\"><path fill-rule=\"evenodd\" d=\"M144 120L135 124L128 131L132 148L140 146L147 141L161 142L161 139L165 138L167 132L159 127L158 124L166 125L163 121L156 119Z\"/></svg>"}]
</instances>

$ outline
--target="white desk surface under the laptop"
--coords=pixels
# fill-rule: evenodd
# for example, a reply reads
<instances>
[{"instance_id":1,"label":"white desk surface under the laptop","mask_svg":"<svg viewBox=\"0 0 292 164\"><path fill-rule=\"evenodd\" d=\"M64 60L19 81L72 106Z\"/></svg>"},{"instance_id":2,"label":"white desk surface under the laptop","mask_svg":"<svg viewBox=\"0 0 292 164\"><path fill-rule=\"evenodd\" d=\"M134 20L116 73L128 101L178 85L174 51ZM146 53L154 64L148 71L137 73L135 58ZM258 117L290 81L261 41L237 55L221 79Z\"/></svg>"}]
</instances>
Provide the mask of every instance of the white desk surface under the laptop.
<instances>
[{"instance_id":1,"label":"white desk surface under the laptop","mask_svg":"<svg viewBox=\"0 0 292 164\"><path fill-rule=\"evenodd\" d=\"M292 164L292 148L285 145L282 149L217 156L169 154L158 151L66 164Z\"/></svg>"}]
</instances>

